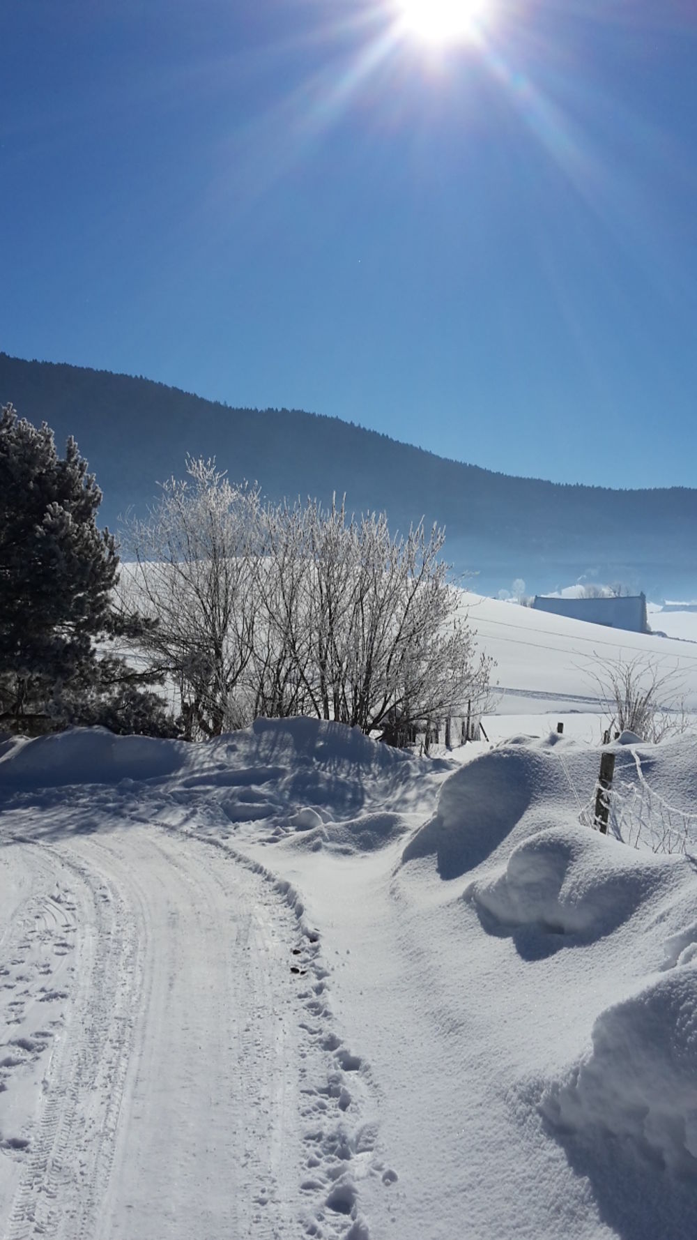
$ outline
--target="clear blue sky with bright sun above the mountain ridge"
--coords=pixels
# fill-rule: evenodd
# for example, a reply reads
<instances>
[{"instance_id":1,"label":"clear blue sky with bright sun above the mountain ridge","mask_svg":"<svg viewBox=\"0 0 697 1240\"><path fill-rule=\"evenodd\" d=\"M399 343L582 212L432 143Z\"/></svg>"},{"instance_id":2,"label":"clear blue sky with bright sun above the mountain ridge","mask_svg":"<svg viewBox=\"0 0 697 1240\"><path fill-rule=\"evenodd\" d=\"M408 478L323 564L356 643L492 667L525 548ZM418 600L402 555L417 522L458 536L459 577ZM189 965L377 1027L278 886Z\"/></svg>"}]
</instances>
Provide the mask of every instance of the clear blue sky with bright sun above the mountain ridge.
<instances>
[{"instance_id":1,"label":"clear blue sky with bright sun above the mountain ridge","mask_svg":"<svg viewBox=\"0 0 697 1240\"><path fill-rule=\"evenodd\" d=\"M697 0L463 5L2 4L0 348L697 485Z\"/></svg>"}]
</instances>

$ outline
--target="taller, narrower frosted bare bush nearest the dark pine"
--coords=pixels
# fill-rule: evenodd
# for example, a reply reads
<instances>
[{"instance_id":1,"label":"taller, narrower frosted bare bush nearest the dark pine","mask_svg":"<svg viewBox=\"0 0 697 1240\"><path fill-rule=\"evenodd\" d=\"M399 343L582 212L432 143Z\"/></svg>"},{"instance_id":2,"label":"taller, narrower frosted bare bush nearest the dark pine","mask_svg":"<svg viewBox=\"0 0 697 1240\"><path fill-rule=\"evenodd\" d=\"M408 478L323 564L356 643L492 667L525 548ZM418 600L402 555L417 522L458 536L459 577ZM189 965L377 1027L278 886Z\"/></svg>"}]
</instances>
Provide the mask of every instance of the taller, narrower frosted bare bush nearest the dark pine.
<instances>
[{"instance_id":1,"label":"taller, narrower frosted bare bush nearest the dark pine","mask_svg":"<svg viewBox=\"0 0 697 1240\"><path fill-rule=\"evenodd\" d=\"M187 475L162 485L124 543L138 605L156 620L140 647L177 686L191 739L249 722L239 691L254 650L260 538L257 489L231 485L215 461L190 459Z\"/></svg>"}]
</instances>

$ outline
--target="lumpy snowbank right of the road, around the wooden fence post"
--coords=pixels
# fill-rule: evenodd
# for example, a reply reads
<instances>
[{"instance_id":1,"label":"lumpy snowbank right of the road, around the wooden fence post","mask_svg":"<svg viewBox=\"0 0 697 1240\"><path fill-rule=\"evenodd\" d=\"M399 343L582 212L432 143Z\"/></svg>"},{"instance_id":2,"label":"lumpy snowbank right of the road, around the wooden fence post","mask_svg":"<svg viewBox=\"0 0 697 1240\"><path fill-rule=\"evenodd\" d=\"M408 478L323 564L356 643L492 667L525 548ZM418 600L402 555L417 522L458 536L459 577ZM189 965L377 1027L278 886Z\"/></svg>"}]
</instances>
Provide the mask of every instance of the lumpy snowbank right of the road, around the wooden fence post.
<instances>
[{"instance_id":1,"label":"lumpy snowbank right of the road, around the wooden fence post","mask_svg":"<svg viewBox=\"0 0 697 1240\"><path fill-rule=\"evenodd\" d=\"M650 782L686 807L697 804L693 746L685 738L644 746L624 735L613 748L626 786ZM460 890L463 918L473 909L490 944L511 941L517 986L531 985L521 968L554 970L557 1040L573 1044L575 1014L579 1029L588 1022L590 1049L528 1091L526 1106L543 1117L548 1136L609 1213L615 1207L605 1202L613 1188L604 1168L613 1166L619 1215L630 1224L626 1231L620 1224L619 1235L655 1235L670 1192L661 1177L688 1183L673 1194L661 1233L682 1238L686 1211L697 1204L695 863L630 848L579 823L574 790L593 790L598 759L598 749L559 737L518 737L482 755L445 780L435 813L403 852L402 869L413 872L413 884L419 870L411 863L420 859L424 874L424 861L433 858L444 884L456 888L456 879L469 877ZM501 967L500 954L491 950L490 960ZM521 998L516 990L511 1004ZM543 1042L533 1034L530 1045L532 1058L543 1060ZM620 1142L621 1156L611 1142ZM645 1224L628 1204L629 1185L642 1177L652 1202Z\"/></svg>"}]
</instances>

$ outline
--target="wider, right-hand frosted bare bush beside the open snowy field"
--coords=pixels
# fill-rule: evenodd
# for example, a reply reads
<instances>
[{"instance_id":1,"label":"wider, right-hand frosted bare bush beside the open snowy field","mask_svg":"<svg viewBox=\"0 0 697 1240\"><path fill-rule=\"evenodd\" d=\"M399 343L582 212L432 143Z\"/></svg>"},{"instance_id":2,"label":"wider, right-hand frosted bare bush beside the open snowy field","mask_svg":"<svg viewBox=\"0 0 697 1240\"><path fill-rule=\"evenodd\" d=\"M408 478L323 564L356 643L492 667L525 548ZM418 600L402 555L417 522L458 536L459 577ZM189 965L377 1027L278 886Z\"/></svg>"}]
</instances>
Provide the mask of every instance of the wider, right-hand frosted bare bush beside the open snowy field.
<instances>
[{"instance_id":1,"label":"wider, right-hand frosted bare bush beside the open snowy field","mask_svg":"<svg viewBox=\"0 0 697 1240\"><path fill-rule=\"evenodd\" d=\"M300 521L317 715L394 733L484 696L491 661L458 615L442 529L393 537L384 513L348 520L336 505L310 503Z\"/></svg>"}]
</instances>

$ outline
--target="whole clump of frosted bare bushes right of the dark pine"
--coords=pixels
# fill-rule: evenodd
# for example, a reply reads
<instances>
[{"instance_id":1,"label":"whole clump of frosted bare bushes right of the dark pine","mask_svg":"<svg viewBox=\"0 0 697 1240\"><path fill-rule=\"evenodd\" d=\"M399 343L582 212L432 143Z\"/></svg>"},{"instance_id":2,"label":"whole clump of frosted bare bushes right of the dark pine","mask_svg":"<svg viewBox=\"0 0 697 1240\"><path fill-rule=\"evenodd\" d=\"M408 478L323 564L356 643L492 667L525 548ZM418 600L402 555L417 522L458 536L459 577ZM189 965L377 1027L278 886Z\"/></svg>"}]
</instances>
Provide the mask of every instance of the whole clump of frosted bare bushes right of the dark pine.
<instances>
[{"instance_id":1,"label":"whole clump of frosted bare bushes right of the dark pine","mask_svg":"<svg viewBox=\"0 0 697 1240\"><path fill-rule=\"evenodd\" d=\"M211 461L189 461L131 522L146 655L179 687L187 737L258 715L311 714L370 733L455 714L486 693L440 560L444 533L393 537L344 503L263 507Z\"/></svg>"}]
</instances>

